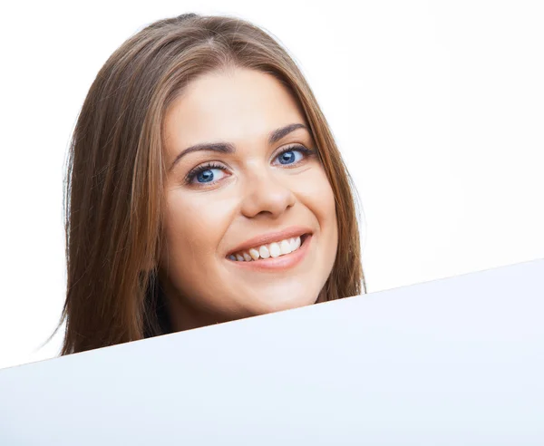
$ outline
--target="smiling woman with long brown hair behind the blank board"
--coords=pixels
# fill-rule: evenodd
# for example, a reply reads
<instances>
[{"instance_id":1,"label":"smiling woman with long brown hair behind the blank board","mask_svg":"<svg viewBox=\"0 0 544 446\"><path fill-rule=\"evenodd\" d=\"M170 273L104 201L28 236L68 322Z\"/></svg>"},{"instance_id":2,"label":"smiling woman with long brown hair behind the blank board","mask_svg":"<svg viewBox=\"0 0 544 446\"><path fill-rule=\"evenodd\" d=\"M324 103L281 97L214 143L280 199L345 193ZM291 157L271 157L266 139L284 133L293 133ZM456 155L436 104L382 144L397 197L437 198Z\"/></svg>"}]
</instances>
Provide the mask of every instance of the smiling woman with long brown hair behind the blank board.
<instances>
[{"instance_id":1,"label":"smiling woman with long brown hair behind the blank board","mask_svg":"<svg viewBox=\"0 0 544 446\"><path fill-rule=\"evenodd\" d=\"M70 150L63 354L361 294L350 179L296 64L242 20L132 36Z\"/></svg>"}]
</instances>

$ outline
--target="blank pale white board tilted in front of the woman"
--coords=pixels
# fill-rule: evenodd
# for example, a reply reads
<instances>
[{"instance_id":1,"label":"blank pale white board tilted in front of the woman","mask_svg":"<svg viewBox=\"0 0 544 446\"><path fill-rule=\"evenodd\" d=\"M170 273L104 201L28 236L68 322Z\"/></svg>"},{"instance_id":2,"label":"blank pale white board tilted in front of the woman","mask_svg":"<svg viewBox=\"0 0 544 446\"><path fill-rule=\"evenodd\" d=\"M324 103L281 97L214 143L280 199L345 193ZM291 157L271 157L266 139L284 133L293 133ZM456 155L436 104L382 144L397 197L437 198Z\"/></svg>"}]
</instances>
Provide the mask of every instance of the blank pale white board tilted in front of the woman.
<instances>
[{"instance_id":1,"label":"blank pale white board tilted in front of the woman","mask_svg":"<svg viewBox=\"0 0 544 446\"><path fill-rule=\"evenodd\" d=\"M544 444L544 260L0 371L0 444Z\"/></svg>"}]
</instances>

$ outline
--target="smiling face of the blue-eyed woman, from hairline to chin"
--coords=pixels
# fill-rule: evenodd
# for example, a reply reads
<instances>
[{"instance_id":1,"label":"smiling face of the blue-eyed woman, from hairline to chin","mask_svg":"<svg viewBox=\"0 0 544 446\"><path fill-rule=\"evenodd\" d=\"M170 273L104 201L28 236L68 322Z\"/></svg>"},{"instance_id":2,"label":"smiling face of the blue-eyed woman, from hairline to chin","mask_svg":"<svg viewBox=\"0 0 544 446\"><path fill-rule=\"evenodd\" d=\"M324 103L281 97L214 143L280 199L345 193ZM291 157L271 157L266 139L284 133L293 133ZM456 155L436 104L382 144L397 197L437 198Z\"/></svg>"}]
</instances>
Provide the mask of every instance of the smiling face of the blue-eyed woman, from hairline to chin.
<instances>
[{"instance_id":1,"label":"smiling face of the blue-eyed woman, from hairline to chin","mask_svg":"<svg viewBox=\"0 0 544 446\"><path fill-rule=\"evenodd\" d=\"M287 89L246 69L200 76L167 112L165 145L174 329L314 304L335 262L335 197Z\"/></svg>"}]
</instances>

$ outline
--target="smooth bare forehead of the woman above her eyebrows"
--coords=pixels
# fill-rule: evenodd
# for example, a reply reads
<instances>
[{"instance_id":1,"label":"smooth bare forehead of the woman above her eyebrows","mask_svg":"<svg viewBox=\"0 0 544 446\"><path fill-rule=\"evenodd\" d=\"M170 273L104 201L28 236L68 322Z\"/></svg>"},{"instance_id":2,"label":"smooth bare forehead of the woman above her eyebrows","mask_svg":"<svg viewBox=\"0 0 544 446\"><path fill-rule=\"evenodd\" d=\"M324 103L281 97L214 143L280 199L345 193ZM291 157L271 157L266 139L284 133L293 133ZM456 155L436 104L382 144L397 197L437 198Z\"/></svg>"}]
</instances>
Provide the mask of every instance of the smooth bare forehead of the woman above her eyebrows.
<instances>
[{"instance_id":1,"label":"smooth bare forehead of the woman above her eyebrows","mask_svg":"<svg viewBox=\"0 0 544 446\"><path fill-rule=\"evenodd\" d=\"M263 141L270 131L305 123L287 88L267 73L235 69L205 74L190 82L166 115L165 141Z\"/></svg>"}]
</instances>

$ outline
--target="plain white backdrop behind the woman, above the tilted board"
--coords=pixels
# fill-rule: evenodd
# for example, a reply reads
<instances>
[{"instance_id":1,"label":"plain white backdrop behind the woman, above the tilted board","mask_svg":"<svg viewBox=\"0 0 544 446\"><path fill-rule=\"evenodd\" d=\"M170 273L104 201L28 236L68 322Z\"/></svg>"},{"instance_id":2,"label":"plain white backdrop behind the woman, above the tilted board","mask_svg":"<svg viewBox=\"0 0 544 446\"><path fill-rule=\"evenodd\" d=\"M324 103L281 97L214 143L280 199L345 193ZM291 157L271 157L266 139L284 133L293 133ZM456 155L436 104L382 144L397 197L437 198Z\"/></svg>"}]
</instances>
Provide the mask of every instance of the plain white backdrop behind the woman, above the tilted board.
<instances>
[{"instance_id":1,"label":"plain white backdrop behind the woman, above the tilted board","mask_svg":"<svg viewBox=\"0 0 544 446\"><path fill-rule=\"evenodd\" d=\"M369 292L544 257L544 4L27 2L2 7L0 368L58 354L63 167L94 76L188 12L274 34L322 106L362 204Z\"/></svg>"}]
</instances>

